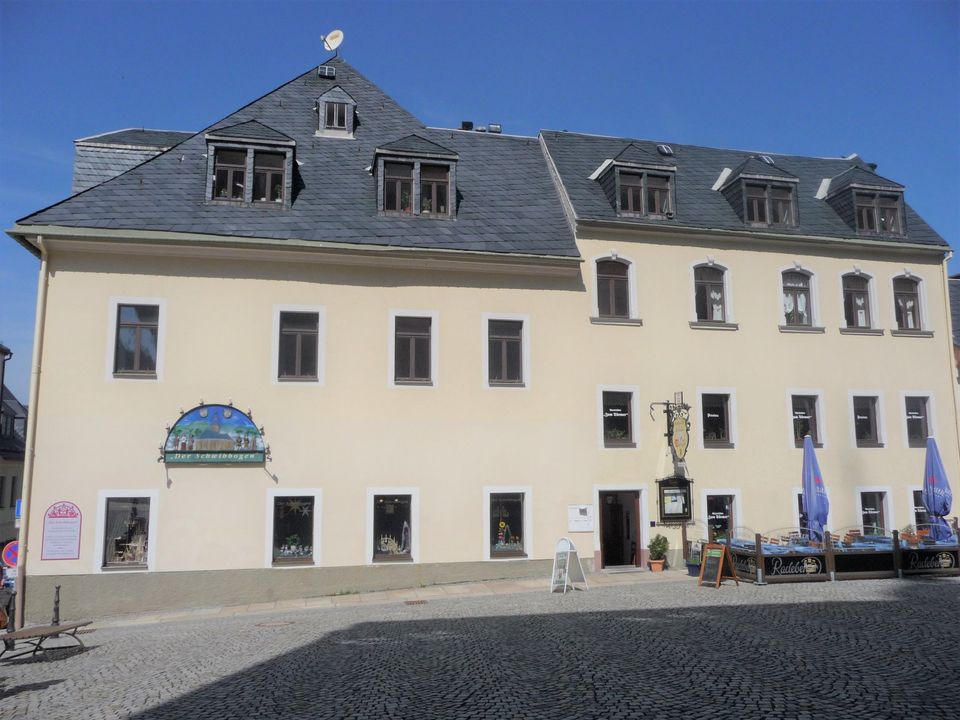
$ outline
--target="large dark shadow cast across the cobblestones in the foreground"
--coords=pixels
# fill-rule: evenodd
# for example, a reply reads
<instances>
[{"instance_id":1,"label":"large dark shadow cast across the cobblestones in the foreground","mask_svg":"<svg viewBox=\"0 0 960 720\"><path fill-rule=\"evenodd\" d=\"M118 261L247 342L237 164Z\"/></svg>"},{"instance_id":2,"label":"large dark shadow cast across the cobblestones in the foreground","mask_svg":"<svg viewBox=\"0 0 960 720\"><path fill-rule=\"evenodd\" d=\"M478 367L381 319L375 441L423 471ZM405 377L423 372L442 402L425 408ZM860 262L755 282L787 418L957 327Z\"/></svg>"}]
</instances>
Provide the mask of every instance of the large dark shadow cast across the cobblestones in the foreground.
<instances>
[{"instance_id":1,"label":"large dark shadow cast across the cobblestones in the foreground","mask_svg":"<svg viewBox=\"0 0 960 720\"><path fill-rule=\"evenodd\" d=\"M869 602L704 588L717 604L358 623L132 717L954 717L958 586L893 585Z\"/></svg>"}]
</instances>

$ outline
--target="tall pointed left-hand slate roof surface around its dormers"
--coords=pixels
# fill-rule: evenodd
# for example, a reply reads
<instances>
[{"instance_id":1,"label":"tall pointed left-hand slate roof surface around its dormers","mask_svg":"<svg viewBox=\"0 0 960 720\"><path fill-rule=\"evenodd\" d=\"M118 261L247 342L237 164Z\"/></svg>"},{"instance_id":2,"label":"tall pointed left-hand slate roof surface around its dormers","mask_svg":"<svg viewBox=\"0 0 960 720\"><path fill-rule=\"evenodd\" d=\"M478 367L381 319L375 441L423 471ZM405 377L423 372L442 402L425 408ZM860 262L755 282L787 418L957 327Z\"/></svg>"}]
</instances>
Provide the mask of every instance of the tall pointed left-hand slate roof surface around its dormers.
<instances>
[{"instance_id":1,"label":"tall pointed left-hand slate roof surface around its dormers","mask_svg":"<svg viewBox=\"0 0 960 720\"><path fill-rule=\"evenodd\" d=\"M537 138L426 128L342 57L326 64L335 79L311 67L175 150L19 223L578 257ZM314 134L314 104L338 85L357 102L352 140ZM206 202L204 132L252 120L297 143L289 209ZM453 219L378 214L374 150L414 134L459 156Z\"/></svg>"}]
</instances>

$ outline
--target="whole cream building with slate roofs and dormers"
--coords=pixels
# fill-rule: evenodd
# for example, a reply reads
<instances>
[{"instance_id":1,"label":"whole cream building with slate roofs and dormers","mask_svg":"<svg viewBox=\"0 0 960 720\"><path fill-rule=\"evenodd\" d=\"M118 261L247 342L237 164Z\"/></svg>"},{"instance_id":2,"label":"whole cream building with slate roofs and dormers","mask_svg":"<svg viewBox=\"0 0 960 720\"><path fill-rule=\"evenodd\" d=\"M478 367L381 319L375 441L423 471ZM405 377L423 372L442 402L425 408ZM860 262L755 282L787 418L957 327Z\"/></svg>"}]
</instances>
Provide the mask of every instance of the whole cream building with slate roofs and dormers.
<instances>
[{"instance_id":1,"label":"whole cream building with slate roofs and dormers","mask_svg":"<svg viewBox=\"0 0 960 720\"><path fill-rule=\"evenodd\" d=\"M859 158L425 128L324 67L9 231L42 259L28 619L55 584L79 614L546 584L564 536L677 564L677 392L691 532L800 526L804 432L834 530L918 522L927 434L957 477L949 248Z\"/></svg>"}]
</instances>

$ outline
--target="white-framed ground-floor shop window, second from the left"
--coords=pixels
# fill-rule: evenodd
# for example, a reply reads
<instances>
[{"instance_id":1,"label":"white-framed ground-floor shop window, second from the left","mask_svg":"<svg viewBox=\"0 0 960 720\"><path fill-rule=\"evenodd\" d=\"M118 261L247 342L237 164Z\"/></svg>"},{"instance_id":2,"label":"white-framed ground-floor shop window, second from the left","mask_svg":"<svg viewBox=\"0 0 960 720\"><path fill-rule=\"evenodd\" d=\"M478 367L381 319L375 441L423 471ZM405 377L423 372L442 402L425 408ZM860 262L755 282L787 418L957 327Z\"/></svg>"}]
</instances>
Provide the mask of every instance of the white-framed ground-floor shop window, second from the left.
<instances>
[{"instance_id":1,"label":"white-framed ground-floor shop window, second from the left","mask_svg":"<svg viewBox=\"0 0 960 720\"><path fill-rule=\"evenodd\" d=\"M319 567L323 491L267 488L263 566Z\"/></svg>"}]
</instances>

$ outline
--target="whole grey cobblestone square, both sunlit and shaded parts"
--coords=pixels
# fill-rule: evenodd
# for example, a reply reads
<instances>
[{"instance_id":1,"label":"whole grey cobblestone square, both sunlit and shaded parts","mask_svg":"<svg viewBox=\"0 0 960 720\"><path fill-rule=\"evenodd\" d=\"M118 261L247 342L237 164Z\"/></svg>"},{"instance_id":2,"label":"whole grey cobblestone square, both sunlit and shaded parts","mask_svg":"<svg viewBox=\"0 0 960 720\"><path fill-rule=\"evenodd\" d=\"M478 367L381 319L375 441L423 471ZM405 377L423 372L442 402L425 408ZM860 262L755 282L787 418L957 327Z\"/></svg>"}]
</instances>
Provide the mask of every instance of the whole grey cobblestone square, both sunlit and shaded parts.
<instances>
[{"instance_id":1,"label":"whole grey cobblestone square, both sunlit and shaded parts","mask_svg":"<svg viewBox=\"0 0 960 720\"><path fill-rule=\"evenodd\" d=\"M650 576L647 575L647 578ZM960 579L546 591L108 626L6 718L956 718Z\"/></svg>"}]
</instances>

